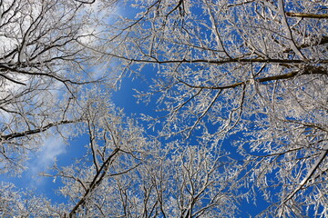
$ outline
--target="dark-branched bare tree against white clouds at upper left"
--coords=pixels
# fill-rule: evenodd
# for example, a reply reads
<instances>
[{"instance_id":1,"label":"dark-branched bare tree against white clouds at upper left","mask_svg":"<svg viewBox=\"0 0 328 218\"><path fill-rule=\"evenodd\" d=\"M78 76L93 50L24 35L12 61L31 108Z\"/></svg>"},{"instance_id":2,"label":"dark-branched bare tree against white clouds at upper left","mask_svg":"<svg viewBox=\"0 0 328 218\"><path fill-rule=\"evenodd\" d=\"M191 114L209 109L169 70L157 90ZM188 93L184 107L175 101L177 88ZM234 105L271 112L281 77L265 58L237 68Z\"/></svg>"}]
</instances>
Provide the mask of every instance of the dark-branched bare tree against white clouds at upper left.
<instances>
[{"instance_id":1,"label":"dark-branched bare tree against white clouds at upper left","mask_svg":"<svg viewBox=\"0 0 328 218\"><path fill-rule=\"evenodd\" d=\"M1 173L24 169L40 133L81 120L79 92L107 80L85 45L96 44L112 3L0 1Z\"/></svg>"}]
</instances>

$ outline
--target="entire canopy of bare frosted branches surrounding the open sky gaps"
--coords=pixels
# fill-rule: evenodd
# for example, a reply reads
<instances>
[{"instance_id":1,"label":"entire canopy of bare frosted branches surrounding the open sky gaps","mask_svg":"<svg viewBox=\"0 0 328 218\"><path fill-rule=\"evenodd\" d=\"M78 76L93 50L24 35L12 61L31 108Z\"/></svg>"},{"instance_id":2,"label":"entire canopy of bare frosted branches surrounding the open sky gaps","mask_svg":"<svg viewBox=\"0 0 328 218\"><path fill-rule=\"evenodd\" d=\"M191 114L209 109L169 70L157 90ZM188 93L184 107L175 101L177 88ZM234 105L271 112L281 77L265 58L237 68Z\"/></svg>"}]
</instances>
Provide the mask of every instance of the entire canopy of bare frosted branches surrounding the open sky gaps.
<instances>
[{"instance_id":1,"label":"entire canopy of bare frosted branches surrounding the open sky gaps","mask_svg":"<svg viewBox=\"0 0 328 218\"><path fill-rule=\"evenodd\" d=\"M13 2L2 8L24 12ZM31 24L7 18L1 27L18 42L3 47L1 65L4 169L51 127L79 122L89 136L83 159L53 169L69 203L48 213L229 216L238 200L258 195L270 203L259 216L327 215L324 1L128 1L136 16L95 20L107 4L45 1L27 14ZM72 14L56 23L46 19L51 10ZM158 103L159 115L143 116L156 139L120 119L100 83L79 91L102 78L85 67L101 72L97 64L113 62L115 74L147 78L149 90L138 95Z\"/></svg>"}]
</instances>

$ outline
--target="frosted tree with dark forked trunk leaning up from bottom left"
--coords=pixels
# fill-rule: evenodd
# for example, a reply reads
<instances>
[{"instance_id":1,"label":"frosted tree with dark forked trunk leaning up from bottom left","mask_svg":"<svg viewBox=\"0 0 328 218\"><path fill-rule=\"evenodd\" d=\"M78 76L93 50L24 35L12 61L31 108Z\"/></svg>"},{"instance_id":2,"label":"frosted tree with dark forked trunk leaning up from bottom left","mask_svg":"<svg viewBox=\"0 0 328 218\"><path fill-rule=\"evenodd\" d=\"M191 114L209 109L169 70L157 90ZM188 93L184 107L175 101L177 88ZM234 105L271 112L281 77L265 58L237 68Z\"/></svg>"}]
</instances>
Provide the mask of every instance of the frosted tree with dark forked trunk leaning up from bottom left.
<instances>
[{"instance_id":1,"label":"frosted tree with dark forked trunk leaning up from bottom left","mask_svg":"<svg viewBox=\"0 0 328 218\"><path fill-rule=\"evenodd\" d=\"M116 202L115 180L121 174L134 171L147 155L149 142L142 128L127 120L108 97L91 99L87 96L86 121L80 125L80 134L87 134L87 153L71 166L55 166L56 179L64 186L60 193L69 197L62 216L115 216L121 208ZM126 122L124 123L123 120ZM50 176L50 175L48 175ZM130 187L133 189L133 187Z\"/></svg>"}]
</instances>

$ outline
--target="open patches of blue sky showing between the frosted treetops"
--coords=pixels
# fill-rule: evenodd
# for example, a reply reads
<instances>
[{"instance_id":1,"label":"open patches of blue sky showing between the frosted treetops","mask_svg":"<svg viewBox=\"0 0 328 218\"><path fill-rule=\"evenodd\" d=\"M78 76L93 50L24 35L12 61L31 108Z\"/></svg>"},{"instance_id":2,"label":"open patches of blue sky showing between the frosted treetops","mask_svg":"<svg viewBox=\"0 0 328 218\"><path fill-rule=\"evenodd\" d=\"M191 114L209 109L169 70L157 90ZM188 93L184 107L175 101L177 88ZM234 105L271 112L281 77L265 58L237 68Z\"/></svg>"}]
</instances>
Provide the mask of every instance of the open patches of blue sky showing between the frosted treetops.
<instances>
[{"instance_id":1,"label":"open patches of blue sky showing between the frosted treetops","mask_svg":"<svg viewBox=\"0 0 328 218\"><path fill-rule=\"evenodd\" d=\"M131 11L133 13L131 13ZM136 11L126 6L124 9L120 8L118 13L121 15L133 15ZM195 13L198 13L196 11ZM236 39L238 40L238 38ZM197 67L197 66L195 66ZM101 71L101 68L99 68ZM99 71L98 68L96 70ZM95 70L95 69L94 69ZM96 71L95 70L95 71ZM122 79L119 85L118 91L108 94L108 98L110 97L114 104L118 106L118 108L123 108L125 114L132 117L140 117L140 114L147 114L150 116L158 117L165 113L157 112L157 102L156 95L152 98L152 101L149 104L146 104L142 101L138 101L134 95L136 95L136 91L147 91L149 90L149 85L152 84L152 79L156 79L157 69L146 66L143 67L142 71L139 72L139 75L132 74L130 76L126 76ZM229 101L227 101L229 102ZM223 110L224 113L224 110ZM147 129L146 122L139 120L141 124ZM214 133L217 130L217 126L215 124L208 124L210 128L209 131ZM155 129L156 132L156 129ZM147 129L147 134L154 135L156 133L151 129ZM191 144L197 144L197 137L200 135L197 130L193 131L191 137L189 139ZM181 136L177 136L179 139ZM244 137L242 133L232 134L227 137L222 144L224 144L224 149L231 153L231 157L236 160L241 160L241 155L237 154L237 148L233 146L233 142ZM81 135L77 138L72 138L68 142L69 145L64 144L64 142L57 137L57 135L53 135L48 137L43 145L43 150L36 153L31 154L31 159L26 163L28 170L24 172L21 177L7 177L6 174L0 175L0 180L4 182L12 182L19 188L33 188L36 189L36 193L44 194L46 197L52 199L57 203L65 203L67 199L62 196L56 195L56 189L58 189L61 185L60 181L54 181L53 178L49 177L38 177L38 174L41 172L51 173L48 168L51 167L55 162L59 166L69 165L74 162L74 160L83 154L85 154L86 148L85 146L89 143L89 139L87 135ZM163 144L165 141L163 139ZM272 189L274 192L274 189ZM247 189L241 189L241 192L246 192ZM261 196L261 192L256 190L256 193L259 193L256 199L256 205L253 204L253 201L250 200L250 203L247 203L246 200L243 200L240 205L240 217L247 217L261 213L263 209L269 206L269 203L266 203Z\"/></svg>"}]
</instances>

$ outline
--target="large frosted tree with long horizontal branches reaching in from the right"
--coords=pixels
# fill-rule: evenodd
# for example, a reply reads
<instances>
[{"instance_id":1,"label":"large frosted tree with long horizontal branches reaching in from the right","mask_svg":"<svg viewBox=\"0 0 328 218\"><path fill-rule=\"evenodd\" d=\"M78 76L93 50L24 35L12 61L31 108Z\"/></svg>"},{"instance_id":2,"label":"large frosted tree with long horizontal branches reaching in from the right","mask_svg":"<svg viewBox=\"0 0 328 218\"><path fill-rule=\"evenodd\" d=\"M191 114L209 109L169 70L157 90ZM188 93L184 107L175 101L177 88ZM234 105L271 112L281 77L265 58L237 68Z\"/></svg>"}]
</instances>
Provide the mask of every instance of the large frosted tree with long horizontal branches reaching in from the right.
<instances>
[{"instance_id":1,"label":"large frosted tree with long horizontal branches reaching in from the right","mask_svg":"<svg viewBox=\"0 0 328 218\"><path fill-rule=\"evenodd\" d=\"M308 215L326 216L324 1L136 3L137 17L116 24L108 41L118 48L100 52L132 72L153 67L152 90L140 96L167 111L155 122L161 135L188 138L200 133L196 127L221 140L244 134L235 142L242 178L273 202L260 215L299 217L311 208Z\"/></svg>"}]
</instances>

